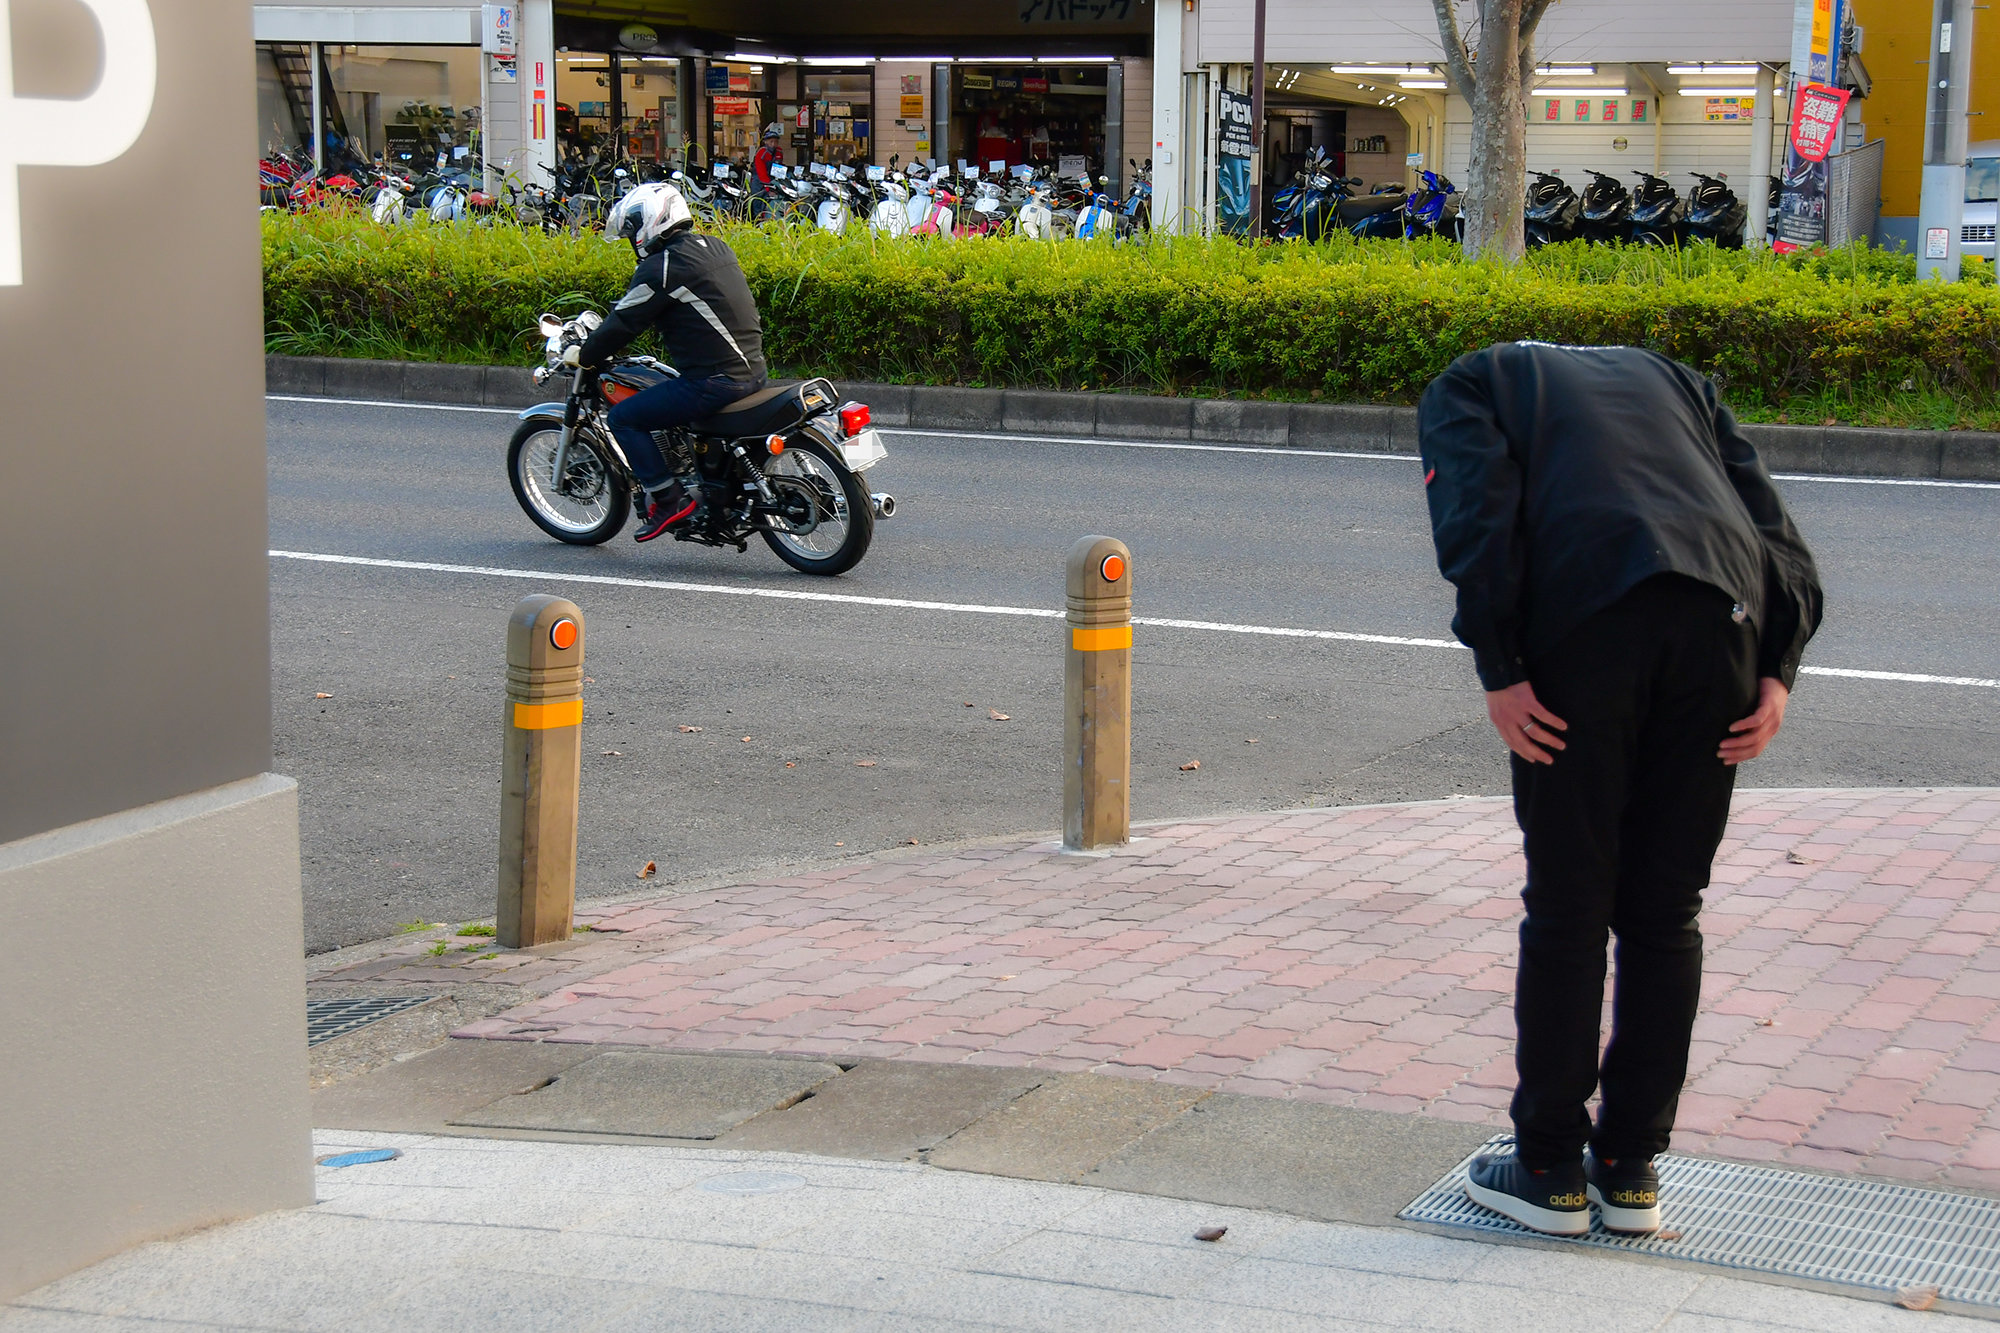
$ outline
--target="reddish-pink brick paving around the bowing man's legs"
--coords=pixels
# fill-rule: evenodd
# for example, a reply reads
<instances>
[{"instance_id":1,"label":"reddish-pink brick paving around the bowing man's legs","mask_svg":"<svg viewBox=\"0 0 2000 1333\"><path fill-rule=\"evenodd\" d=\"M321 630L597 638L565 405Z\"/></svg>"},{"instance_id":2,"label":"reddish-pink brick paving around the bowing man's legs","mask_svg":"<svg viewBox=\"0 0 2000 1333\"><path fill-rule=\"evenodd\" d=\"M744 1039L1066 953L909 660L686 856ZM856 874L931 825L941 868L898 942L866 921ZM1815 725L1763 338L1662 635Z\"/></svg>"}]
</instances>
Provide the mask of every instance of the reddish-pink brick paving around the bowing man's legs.
<instances>
[{"instance_id":1,"label":"reddish-pink brick paving around the bowing man's legs","mask_svg":"<svg viewBox=\"0 0 2000 1333\"><path fill-rule=\"evenodd\" d=\"M910 853L580 913L466 1037L1092 1069L1506 1123L1504 801ZM2000 791L1740 793L1674 1145L2000 1191ZM412 945L412 949L416 949ZM464 969L464 971L460 971Z\"/></svg>"}]
</instances>

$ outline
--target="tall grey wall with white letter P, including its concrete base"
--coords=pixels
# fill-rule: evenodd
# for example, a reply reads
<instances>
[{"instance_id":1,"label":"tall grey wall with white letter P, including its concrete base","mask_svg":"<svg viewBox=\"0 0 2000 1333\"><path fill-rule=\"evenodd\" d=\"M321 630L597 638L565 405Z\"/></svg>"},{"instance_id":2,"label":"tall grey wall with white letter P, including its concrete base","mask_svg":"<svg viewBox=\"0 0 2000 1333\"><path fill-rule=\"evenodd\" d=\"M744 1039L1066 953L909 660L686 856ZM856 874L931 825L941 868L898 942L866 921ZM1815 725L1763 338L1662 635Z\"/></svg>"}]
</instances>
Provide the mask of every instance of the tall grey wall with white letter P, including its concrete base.
<instances>
[{"instance_id":1,"label":"tall grey wall with white letter P, including its concrete base","mask_svg":"<svg viewBox=\"0 0 2000 1333\"><path fill-rule=\"evenodd\" d=\"M18 96L92 94L90 10L10 8ZM20 170L22 282L0 286L0 1299L312 1199L298 815L260 777L250 6L148 10L150 54L112 34L156 68L150 106L118 84L136 142Z\"/></svg>"}]
</instances>

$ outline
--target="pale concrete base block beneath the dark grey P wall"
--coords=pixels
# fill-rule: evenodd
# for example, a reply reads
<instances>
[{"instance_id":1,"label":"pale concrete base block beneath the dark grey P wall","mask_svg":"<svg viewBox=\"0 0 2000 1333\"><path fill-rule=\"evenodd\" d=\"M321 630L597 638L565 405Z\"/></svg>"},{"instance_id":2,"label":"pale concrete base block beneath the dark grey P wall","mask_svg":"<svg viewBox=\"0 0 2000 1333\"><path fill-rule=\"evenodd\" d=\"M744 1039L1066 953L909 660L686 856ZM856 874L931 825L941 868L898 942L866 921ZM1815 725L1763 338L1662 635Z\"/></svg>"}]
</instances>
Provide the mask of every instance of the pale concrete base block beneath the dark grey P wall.
<instances>
[{"instance_id":1,"label":"pale concrete base block beneath the dark grey P wall","mask_svg":"<svg viewBox=\"0 0 2000 1333\"><path fill-rule=\"evenodd\" d=\"M0 1301L312 1203L290 779L0 847Z\"/></svg>"}]
</instances>

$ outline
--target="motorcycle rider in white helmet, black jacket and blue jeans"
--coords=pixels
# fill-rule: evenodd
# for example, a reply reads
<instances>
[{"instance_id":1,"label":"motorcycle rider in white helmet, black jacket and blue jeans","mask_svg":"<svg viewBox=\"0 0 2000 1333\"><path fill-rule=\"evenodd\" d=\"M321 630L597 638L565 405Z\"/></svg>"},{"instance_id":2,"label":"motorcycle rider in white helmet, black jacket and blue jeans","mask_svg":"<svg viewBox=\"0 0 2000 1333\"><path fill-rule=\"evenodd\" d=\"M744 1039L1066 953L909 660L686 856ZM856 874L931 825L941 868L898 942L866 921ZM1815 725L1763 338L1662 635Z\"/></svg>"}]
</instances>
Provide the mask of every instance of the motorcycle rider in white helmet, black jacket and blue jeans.
<instances>
[{"instance_id":1,"label":"motorcycle rider in white helmet, black jacket and blue jeans","mask_svg":"<svg viewBox=\"0 0 2000 1333\"><path fill-rule=\"evenodd\" d=\"M646 488L636 538L650 542L688 518L700 502L694 458L668 462L654 430L684 426L764 388L764 326L736 252L694 230L688 200L670 182L636 186L612 204L604 240L630 240L638 254L632 284L610 318L566 366L598 366L652 328L678 378L612 406L606 420L632 474Z\"/></svg>"}]
</instances>

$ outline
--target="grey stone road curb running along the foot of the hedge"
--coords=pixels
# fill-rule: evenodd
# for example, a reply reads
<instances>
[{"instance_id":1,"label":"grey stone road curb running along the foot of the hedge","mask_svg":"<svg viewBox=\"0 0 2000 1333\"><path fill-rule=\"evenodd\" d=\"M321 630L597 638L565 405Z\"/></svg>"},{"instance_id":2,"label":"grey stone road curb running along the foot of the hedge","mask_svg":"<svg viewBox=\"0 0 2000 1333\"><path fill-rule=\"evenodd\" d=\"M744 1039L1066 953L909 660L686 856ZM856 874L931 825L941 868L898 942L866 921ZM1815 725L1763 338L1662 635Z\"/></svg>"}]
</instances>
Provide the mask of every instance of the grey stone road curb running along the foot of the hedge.
<instances>
[{"instance_id":1,"label":"grey stone road curb running along the foot of the hedge","mask_svg":"<svg viewBox=\"0 0 2000 1333\"><path fill-rule=\"evenodd\" d=\"M346 356L266 356L274 394L514 406L540 402L526 366L458 366ZM1206 440L1324 452L1416 454L1416 408L956 388L844 380L880 426L996 430L1106 440ZM1774 472L1910 480L2000 480L2000 432L1746 424Z\"/></svg>"}]
</instances>

